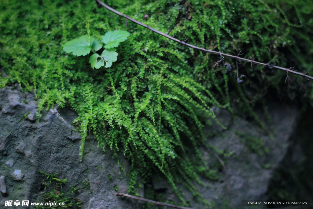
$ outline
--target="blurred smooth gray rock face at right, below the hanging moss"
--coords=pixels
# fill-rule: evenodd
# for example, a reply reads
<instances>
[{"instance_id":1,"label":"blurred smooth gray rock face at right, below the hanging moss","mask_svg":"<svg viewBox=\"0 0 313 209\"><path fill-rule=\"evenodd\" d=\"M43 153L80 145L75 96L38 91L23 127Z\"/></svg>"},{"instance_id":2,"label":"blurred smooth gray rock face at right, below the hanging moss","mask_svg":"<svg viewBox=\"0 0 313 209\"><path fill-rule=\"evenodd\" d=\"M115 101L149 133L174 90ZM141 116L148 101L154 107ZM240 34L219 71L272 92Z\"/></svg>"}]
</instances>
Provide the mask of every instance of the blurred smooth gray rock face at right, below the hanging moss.
<instances>
[{"instance_id":1,"label":"blurred smooth gray rock face at right, below the hanging moss","mask_svg":"<svg viewBox=\"0 0 313 209\"><path fill-rule=\"evenodd\" d=\"M217 166L220 169L217 170L218 180L212 181L200 177L204 186L194 182L196 188L204 199L217 208L243 208L243 200L264 200L274 169L279 166L287 153L288 139L296 128L297 109L286 105L268 106L272 122L267 125L274 130L273 138L264 133L255 122L242 118L234 118L233 121L227 110L212 109L218 121L228 129L212 137L210 135L212 131L221 131L217 124L213 123L213 126L206 130L207 143L231 155L219 154L212 148L199 148L208 165L211 165L212 169ZM260 118L263 117L260 115ZM154 189L163 189L162 192L168 200L178 201L164 179L155 178L152 182ZM182 189L182 186L178 188ZM183 193L186 200L191 200L193 208L205 208L203 204L192 200L192 194L188 190L184 189ZM244 208L249 208L249 206L244 206Z\"/></svg>"}]
</instances>

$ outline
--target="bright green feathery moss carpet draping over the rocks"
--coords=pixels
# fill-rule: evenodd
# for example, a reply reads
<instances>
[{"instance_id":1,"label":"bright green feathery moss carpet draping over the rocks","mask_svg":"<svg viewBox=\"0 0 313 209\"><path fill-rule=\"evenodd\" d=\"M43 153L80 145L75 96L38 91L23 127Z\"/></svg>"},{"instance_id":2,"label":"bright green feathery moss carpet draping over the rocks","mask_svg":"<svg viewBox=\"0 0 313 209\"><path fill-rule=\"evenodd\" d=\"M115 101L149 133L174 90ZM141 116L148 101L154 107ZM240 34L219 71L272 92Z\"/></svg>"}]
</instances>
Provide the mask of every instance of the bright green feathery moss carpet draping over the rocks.
<instances>
[{"instance_id":1,"label":"bright green feathery moss carpet draping over the rocks","mask_svg":"<svg viewBox=\"0 0 313 209\"><path fill-rule=\"evenodd\" d=\"M277 65L299 71L313 68L309 1L106 3L203 48L233 55L243 50L243 57L254 55L262 62L279 56ZM218 56L168 40L165 44L164 37L130 21L126 28L125 19L97 8L95 2L2 1L0 9L0 64L8 76L0 79L1 87L18 82L24 91L34 90L38 116L44 106L55 103L76 111L82 157L90 131L101 147L124 153L132 165L130 191L137 174L145 181L158 171L174 189L179 176L192 190L189 180L198 180L198 165L207 171L202 168L202 174L210 173L197 146L205 138L205 119L214 118L213 105L232 111L232 102L255 118L253 105L264 103L261 97L269 91L292 99L300 91L312 101L311 84L303 78L292 76L297 82L288 88L285 72L271 73L243 63L239 71L248 81L238 85L235 71L226 77L221 68L213 68ZM147 20L145 14L150 16ZM71 39L85 34L100 39L112 30L125 30L131 36L117 48L119 58L108 69L92 69L88 57L68 55L62 49ZM235 66L233 60L226 62ZM189 153L195 155L186 157Z\"/></svg>"}]
</instances>

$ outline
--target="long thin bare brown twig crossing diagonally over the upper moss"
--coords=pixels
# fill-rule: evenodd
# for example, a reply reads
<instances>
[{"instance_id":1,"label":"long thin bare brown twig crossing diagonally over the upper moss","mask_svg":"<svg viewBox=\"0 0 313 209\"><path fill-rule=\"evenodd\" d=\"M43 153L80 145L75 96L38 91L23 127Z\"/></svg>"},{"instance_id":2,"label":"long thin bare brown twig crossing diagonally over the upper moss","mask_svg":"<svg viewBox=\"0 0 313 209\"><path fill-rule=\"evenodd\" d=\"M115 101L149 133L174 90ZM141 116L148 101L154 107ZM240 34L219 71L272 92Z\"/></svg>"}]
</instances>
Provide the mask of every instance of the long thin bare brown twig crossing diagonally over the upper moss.
<instances>
[{"instance_id":1,"label":"long thin bare brown twig crossing diagonally over the upper moss","mask_svg":"<svg viewBox=\"0 0 313 209\"><path fill-rule=\"evenodd\" d=\"M165 33L162 33L162 32L160 32L160 31L158 31L158 30L156 30L156 29L154 29L154 28L151 28L150 26L148 26L148 25L146 25L146 24L143 24L143 23L141 23L141 22L139 22L139 21L137 21L137 20L135 20L135 19L133 19L133 18L128 17L128 16L125 15L125 14L120 13L119 11L116 11L115 9L109 7L108 5L106 5L105 3L101 2L100 0L96 0L96 2L97 2L97 5L98 5L98 8L99 8L99 4L100 4L100 5L103 6L104 8L110 10L111 12L113 12L113 13L115 13L115 14L117 14L117 15L120 15L120 16L123 17L123 18L126 18L126 19L128 19L128 20L130 20L130 21L132 21L132 22L134 22L134 23L136 23L136 24L138 24L138 25L141 25L141 26L143 26L143 27L145 27L145 28L147 28L147 29L149 29L149 30L151 30L151 31L153 31L153 32L155 32L155 33L157 33L157 34L160 34L160 35L162 35L162 36L164 36L164 37L166 37L166 38L168 38L168 39L171 39L171 40L173 40L173 41L175 41L175 42L177 42L177 43L180 43L180 44L183 44L183 45L185 45L185 46L191 47L192 49L197 49L197 50L204 51L204 52L206 52L206 53L214 54L214 55L223 55L224 57L228 57L228 58L236 59L236 60L242 60L242 61L244 61L244 62L250 62L251 65L252 65L252 64L260 65L260 66L264 66L264 67L269 67L270 69L276 68L276 69L279 69L279 70L283 70L283 71L287 71L287 72L290 72L290 73L293 73L293 74L297 74L297 75L300 75L300 76L304 76L305 78L308 78L308 79L312 79L312 80L313 80L313 77L312 77L312 76L309 76L309 75L307 75L306 73L300 73L300 72L291 70L291 69L289 69L289 68L284 68L284 67L279 67L279 66L271 65L271 64L269 64L269 63L257 62L257 61L254 61L254 60L248 60L248 59L244 59L244 58L241 58L241 57L238 57L238 56L228 55L228 54L224 54L224 53L217 52L217 51L212 51L212 50L203 49L203 48L197 47L197 46L195 46L195 45L187 44L187 43L186 43L187 40L181 41L181 40L175 39L175 38L173 38L172 36L169 36L169 35L167 35L167 34L165 34Z\"/></svg>"}]
</instances>

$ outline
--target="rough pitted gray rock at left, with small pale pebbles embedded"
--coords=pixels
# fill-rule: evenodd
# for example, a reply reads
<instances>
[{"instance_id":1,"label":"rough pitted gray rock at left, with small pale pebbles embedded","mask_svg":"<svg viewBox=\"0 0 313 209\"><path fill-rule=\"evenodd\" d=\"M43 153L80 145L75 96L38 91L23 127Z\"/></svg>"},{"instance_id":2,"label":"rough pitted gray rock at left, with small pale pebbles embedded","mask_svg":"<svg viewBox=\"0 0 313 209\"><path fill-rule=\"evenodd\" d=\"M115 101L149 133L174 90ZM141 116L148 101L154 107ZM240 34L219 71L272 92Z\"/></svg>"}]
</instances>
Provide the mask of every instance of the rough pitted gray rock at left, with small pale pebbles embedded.
<instances>
[{"instance_id":1,"label":"rough pitted gray rock at left, with small pale pebbles embedded","mask_svg":"<svg viewBox=\"0 0 313 209\"><path fill-rule=\"evenodd\" d=\"M70 186L81 188L82 182L88 181L90 186L74 196L83 201L83 208L139 207L139 201L115 196L116 192L127 192L128 180L113 153L97 147L92 135L86 138L80 162L80 134L70 124L77 116L74 112L54 107L42 111L37 123L34 95L19 91L18 86L0 91L0 110L0 176L5 176L5 183L4 177L0 180L1 192L5 191L0 195L0 208L6 200L42 201L46 191L41 188L44 177L39 170L67 179L62 185L65 193ZM127 171L128 162L123 157L119 160ZM143 195L143 190L138 193Z\"/></svg>"}]
</instances>

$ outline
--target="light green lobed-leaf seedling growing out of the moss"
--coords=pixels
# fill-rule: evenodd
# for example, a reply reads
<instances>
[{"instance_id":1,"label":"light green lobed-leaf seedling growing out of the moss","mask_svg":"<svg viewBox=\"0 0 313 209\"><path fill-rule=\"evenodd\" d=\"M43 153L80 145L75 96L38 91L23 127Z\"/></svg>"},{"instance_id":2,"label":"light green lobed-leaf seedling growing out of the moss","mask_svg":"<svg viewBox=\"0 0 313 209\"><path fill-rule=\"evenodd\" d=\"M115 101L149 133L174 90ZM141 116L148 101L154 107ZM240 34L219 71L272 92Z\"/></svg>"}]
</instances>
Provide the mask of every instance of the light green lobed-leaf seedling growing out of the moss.
<instances>
[{"instance_id":1,"label":"light green lobed-leaf seedling growing out of the moss","mask_svg":"<svg viewBox=\"0 0 313 209\"><path fill-rule=\"evenodd\" d=\"M108 68L112 66L112 62L117 60L118 54L115 52L116 49L112 48L117 47L119 43L125 41L128 36L130 36L130 33L121 30L107 32L101 37L101 41L92 36L84 35L78 39L66 42L63 45L63 50L76 56L85 56L89 54L91 50L93 52L100 50L104 43L105 50L101 53L101 55L97 53L91 55L89 63L92 68L99 69L104 65Z\"/></svg>"}]
</instances>

